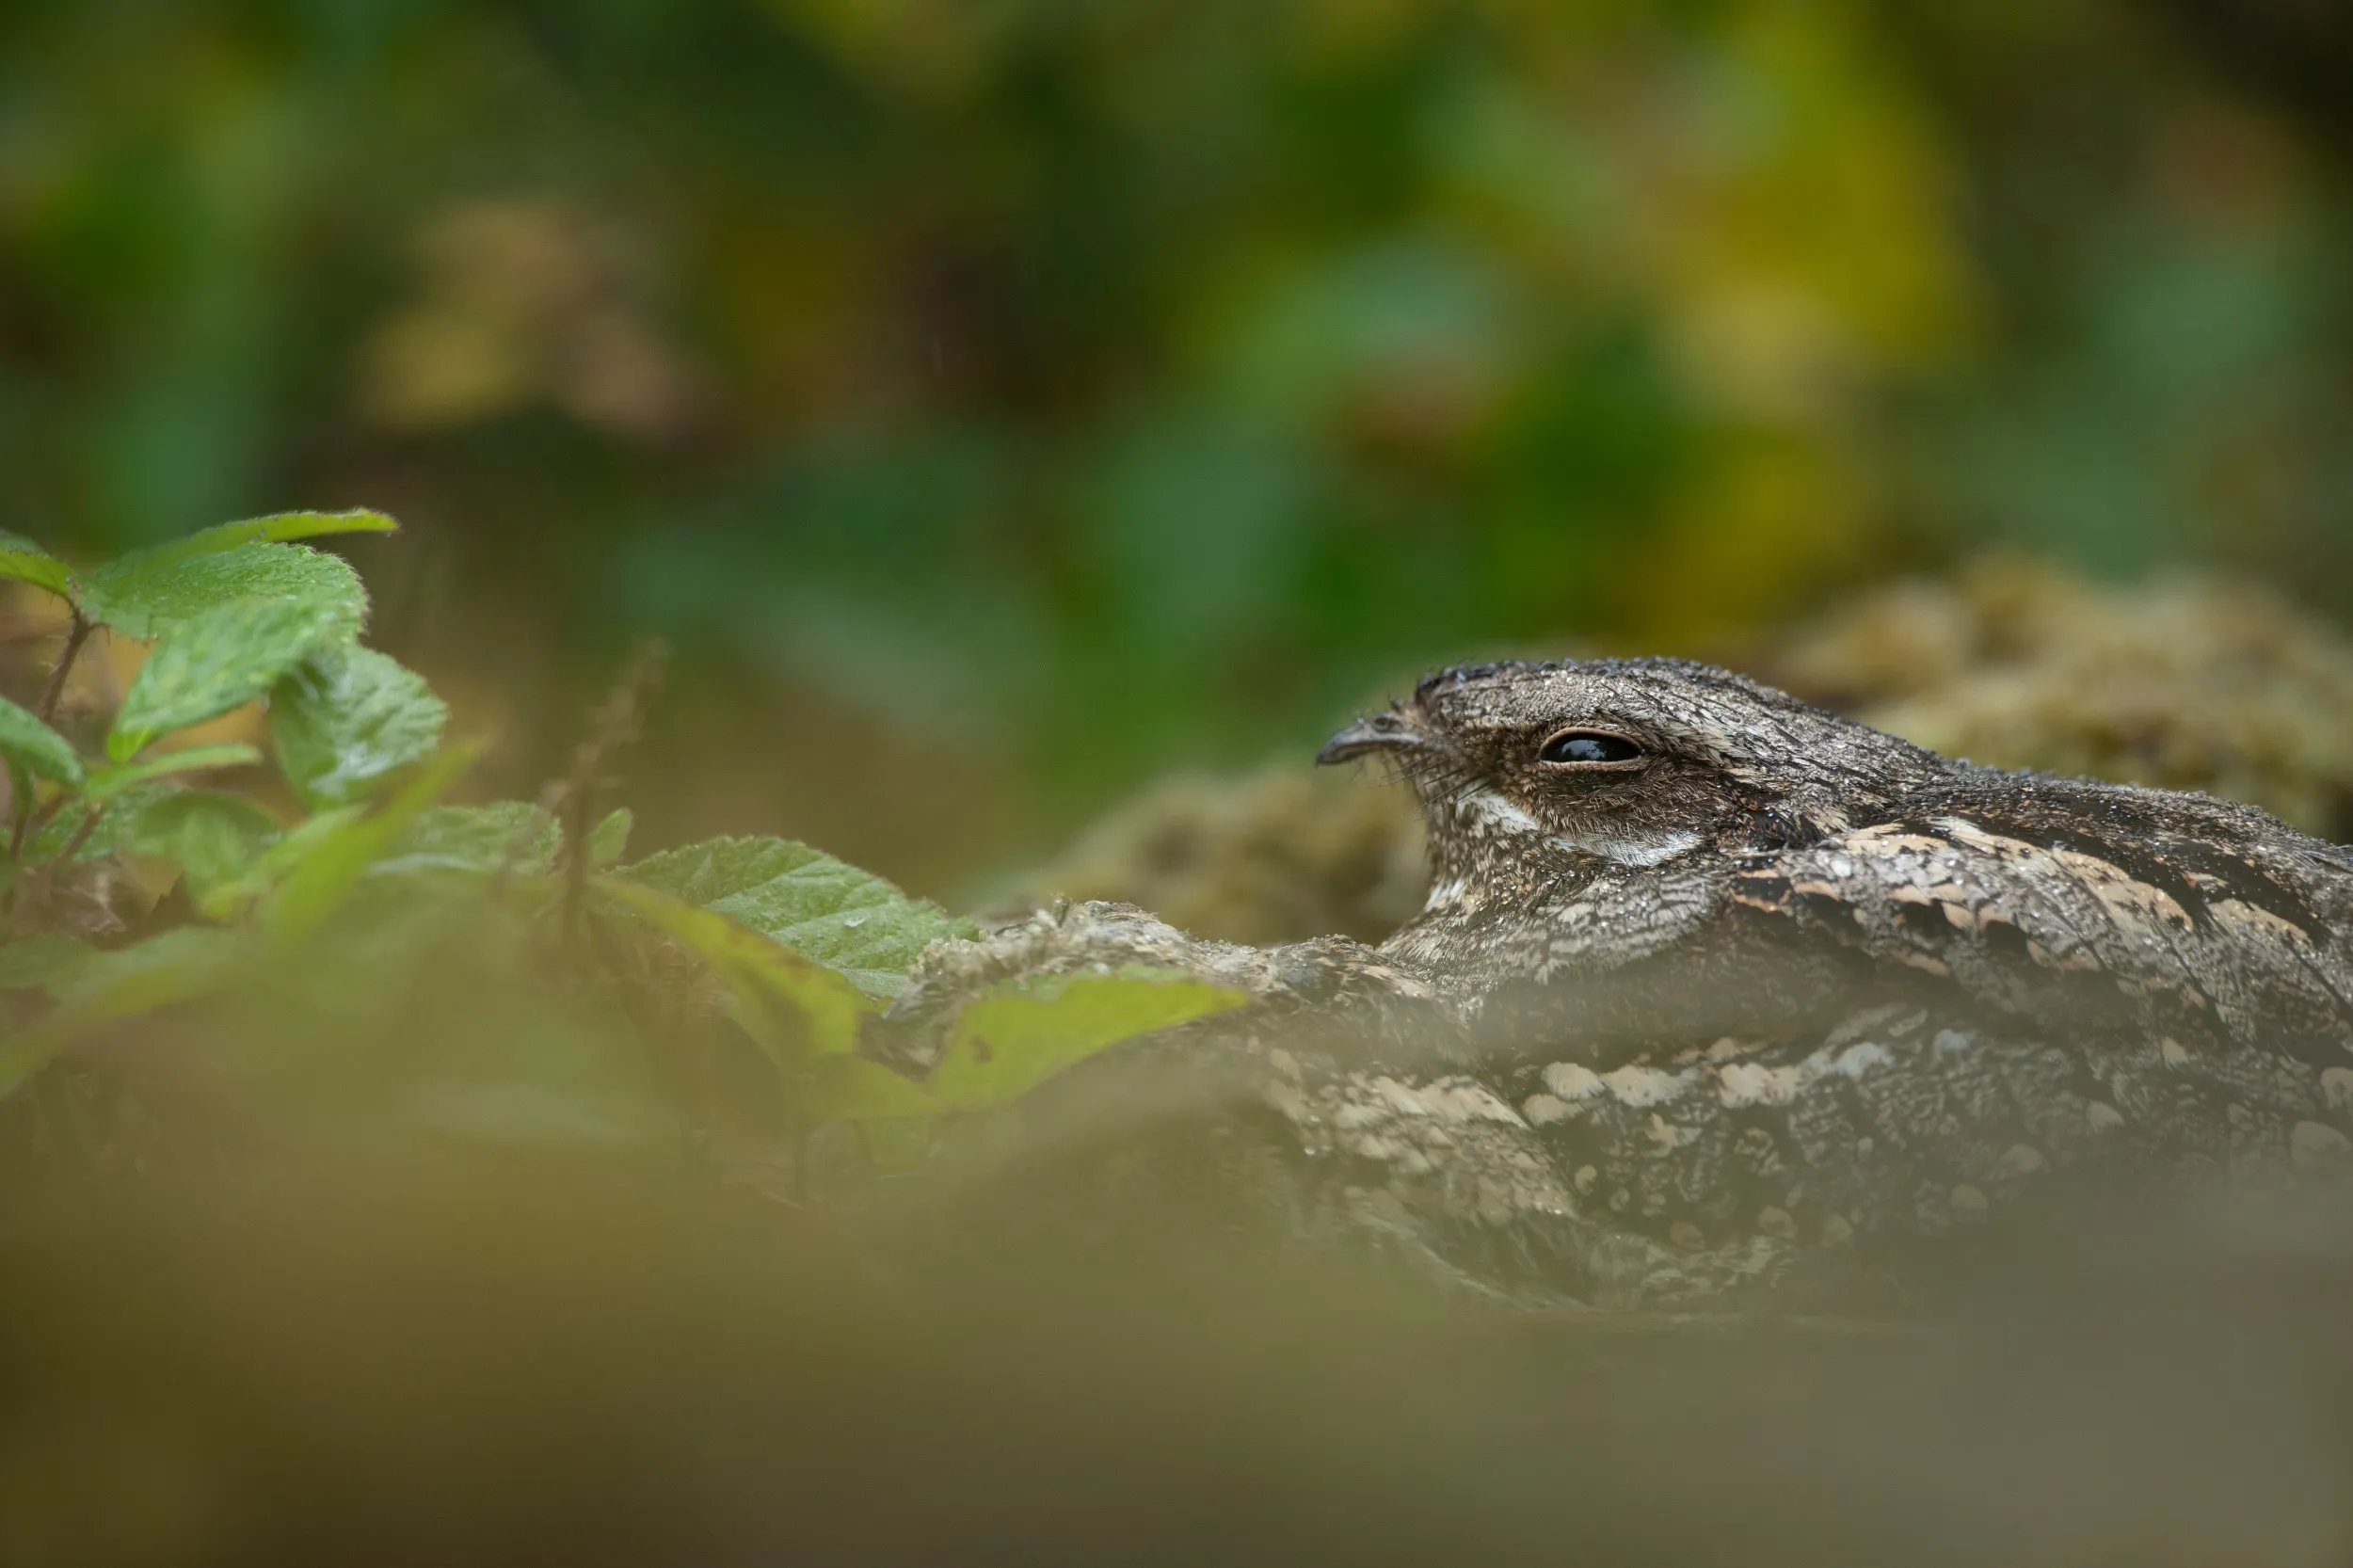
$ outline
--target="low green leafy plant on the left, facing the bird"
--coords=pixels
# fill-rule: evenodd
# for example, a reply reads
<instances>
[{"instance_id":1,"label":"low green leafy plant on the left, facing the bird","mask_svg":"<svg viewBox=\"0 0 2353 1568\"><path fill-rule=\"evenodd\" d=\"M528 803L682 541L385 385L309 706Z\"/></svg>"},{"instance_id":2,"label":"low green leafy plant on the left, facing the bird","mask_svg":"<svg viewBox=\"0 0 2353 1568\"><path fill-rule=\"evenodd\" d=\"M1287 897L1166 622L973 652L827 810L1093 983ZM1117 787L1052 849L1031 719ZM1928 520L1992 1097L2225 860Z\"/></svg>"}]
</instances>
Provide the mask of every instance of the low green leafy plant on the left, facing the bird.
<instances>
[{"instance_id":1,"label":"low green leafy plant on the left, facing the bird","mask_svg":"<svg viewBox=\"0 0 2353 1568\"><path fill-rule=\"evenodd\" d=\"M649 669L544 800L449 805L478 749L447 742L447 704L419 673L360 645L351 565L299 544L391 530L369 511L287 513L87 572L0 537L0 577L66 612L38 706L0 702L0 1095L104 1076L78 1050L144 1019L200 1024L212 1067L245 1085L315 1088L351 1052L362 1102L466 1137L713 1132L741 1121L722 1092L664 1099L656 1083L692 1076L671 1057L718 1031L720 1050L758 1052L774 1137L798 1163L819 1128L889 1123L904 1142L908 1125L986 1111L1115 1041L1242 1001L1141 970L998 989L955 1019L927 1081L885 1067L861 1052L868 1024L929 944L976 928L781 838L624 866L631 815L595 808ZM61 706L99 633L151 647L85 749ZM188 742L254 702L268 758ZM266 760L282 784L268 798L292 808L191 784L259 784ZM442 1029L466 1050L409 1038L358 1062L388 1017L431 1015L442 991L466 998L466 1022Z\"/></svg>"}]
</instances>

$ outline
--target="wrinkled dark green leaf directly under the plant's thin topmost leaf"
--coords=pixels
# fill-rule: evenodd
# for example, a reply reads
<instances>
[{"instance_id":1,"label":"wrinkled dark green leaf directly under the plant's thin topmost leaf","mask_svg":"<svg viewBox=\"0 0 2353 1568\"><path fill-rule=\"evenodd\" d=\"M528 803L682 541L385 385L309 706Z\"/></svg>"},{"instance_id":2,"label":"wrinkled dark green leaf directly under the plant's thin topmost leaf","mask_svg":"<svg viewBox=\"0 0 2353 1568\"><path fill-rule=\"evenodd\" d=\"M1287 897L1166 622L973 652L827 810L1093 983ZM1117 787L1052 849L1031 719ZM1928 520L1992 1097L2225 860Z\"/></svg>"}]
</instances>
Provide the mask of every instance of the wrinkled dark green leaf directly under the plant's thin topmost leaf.
<instances>
[{"instance_id":1,"label":"wrinkled dark green leaf directly under the plant's thin topmost leaf","mask_svg":"<svg viewBox=\"0 0 2353 1568\"><path fill-rule=\"evenodd\" d=\"M111 560L82 577L75 603L89 619L144 643L240 598L322 610L336 640L360 636L367 622L367 589L341 556L301 544L226 551L193 551L193 544L181 539Z\"/></svg>"}]
</instances>

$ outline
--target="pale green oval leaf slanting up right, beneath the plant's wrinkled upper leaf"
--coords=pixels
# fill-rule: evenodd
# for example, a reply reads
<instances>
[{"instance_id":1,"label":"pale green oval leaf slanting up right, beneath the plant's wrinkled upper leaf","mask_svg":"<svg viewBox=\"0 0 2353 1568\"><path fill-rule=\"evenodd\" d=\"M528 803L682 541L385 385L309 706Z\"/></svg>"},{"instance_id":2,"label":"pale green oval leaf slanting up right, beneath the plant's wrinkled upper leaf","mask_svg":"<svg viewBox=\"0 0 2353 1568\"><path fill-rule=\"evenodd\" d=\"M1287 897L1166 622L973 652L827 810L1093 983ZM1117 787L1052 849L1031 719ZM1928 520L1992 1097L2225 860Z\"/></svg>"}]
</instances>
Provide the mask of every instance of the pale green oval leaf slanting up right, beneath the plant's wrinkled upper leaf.
<instances>
[{"instance_id":1,"label":"pale green oval leaf slanting up right, beneath the plant's wrinkled upper leaf","mask_svg":"<svg viewBox=\"0 0 2353 1568\"><path fill-rule=\"evenodd\" d=\"M334 607L282 600L247 598L179 622L122 695L106 756L127 760L158 735L261 697L336 636L341 619Z\"/></svg>"}]
</instances>

